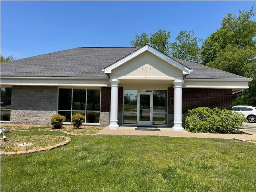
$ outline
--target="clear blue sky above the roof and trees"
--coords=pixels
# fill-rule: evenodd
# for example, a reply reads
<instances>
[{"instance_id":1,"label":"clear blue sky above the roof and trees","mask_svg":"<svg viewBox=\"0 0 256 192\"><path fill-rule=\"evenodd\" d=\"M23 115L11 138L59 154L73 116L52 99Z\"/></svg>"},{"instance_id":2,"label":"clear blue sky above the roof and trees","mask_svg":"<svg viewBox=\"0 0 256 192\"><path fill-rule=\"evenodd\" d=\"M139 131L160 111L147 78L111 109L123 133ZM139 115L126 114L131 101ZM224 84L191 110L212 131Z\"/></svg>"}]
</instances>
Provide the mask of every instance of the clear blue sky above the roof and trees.
<instances>
[{"instance_id":1,"label":"clear blue sky above the roof and trees","mask_svg":"<svg viewBox=\"0 0 256 192\"><path fill-rule=\"evenodd\" d=\"M130 47L136 34L193 30L206 39L227 13L254 1L1 1L1 55L25 58L75 47Z\"/></svg>"}]
</instances>

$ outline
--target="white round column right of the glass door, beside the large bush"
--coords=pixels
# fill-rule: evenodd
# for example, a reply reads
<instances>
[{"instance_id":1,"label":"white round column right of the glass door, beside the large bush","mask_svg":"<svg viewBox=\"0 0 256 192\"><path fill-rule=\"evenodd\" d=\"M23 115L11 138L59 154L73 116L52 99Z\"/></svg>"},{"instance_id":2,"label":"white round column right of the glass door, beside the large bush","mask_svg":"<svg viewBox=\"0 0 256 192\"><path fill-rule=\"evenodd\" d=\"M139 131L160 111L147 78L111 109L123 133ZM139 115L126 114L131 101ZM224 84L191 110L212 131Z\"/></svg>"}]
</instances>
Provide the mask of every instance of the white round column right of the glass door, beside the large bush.
<instances>
[{"instance_id":1,"label":"white round column right of the glass door, beside the large bush","mask_svg":"<svg viewBox=\"0 0 256 192\"><path fill-rule=\"evenodd\" d=\"M182 127L182 83L183 80L174 80L174 126L173 131L183 131Z\"/></svg>"}]
</instances>

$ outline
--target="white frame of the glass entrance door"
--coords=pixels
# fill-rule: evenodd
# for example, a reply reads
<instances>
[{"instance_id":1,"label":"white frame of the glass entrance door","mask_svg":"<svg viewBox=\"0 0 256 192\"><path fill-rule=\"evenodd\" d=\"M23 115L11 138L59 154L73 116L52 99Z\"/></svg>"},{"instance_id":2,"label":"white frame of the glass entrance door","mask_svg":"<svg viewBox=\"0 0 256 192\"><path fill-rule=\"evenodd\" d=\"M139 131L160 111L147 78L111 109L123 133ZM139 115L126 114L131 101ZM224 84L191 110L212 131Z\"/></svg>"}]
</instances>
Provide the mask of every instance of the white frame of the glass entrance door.
<instances>
[{"instance_id":1,"label":"white frame of the glass entrance door","mask_svg":"<svg viewBox=\"0 0 256 192\"><path fill-rule=\"evenodd\" d=\"M140 95L150 95L150 108L149 108L149 121L140 121ZM137 125L149 125L152 126L153 124L153 92L138 92L138 99L137 99Z\"/></svg>"}]
</instances>

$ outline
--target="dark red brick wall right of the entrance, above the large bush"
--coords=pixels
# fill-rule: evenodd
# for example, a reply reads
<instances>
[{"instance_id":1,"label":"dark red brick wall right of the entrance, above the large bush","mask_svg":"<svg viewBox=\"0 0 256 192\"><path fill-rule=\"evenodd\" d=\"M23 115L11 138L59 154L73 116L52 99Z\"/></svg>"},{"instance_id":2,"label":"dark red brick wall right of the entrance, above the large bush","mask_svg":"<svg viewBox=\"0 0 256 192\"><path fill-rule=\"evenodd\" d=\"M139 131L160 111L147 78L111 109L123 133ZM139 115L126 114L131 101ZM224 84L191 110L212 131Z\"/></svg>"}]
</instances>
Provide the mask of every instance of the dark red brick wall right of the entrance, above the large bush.
<instances>
[{"instance_id":1,"label":"dark red brick wall right of the entrance, above the large bush","mask_svg":"<svg viewBox=\"0 0 256 192\"><path fill-rule=\"evenodd\" d=\"M174 88L168 88L168 113L174 113L174 106L171 106L171 98L174 98ZM182 114L188 109L197 107L217 107L220 109L232 109L231 89L190 89L182 88Z\"/></svg>"}]
</instances>

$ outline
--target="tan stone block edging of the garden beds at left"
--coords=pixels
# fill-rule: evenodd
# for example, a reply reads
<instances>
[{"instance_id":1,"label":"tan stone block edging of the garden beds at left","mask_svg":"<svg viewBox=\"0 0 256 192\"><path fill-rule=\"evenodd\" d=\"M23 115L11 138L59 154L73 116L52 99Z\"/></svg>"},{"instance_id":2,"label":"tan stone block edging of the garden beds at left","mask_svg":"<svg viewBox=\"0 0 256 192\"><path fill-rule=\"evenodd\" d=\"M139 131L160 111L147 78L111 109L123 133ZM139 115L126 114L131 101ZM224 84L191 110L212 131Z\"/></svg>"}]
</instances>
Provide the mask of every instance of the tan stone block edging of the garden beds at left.
<instances>
[{"instance_id":1,"label":"tan stone block edging of the garden beds at left","mask_svg":"<svg viewBox=\"0 0 256 192\"><path fill-rule=\"evenodd\" d=\"M27 131L27 130L21 130L21 132L22 131ZM53 146L48 146L48 147L39 148L39 149L31 149L31 150L28 150L28 151L25 151L25 150L24 151L17 151L17 152L14 152L14 151L12 151L12 152L1 151L0 155L1 156L13 156L13 155L16 155L16 154L17 155L24 155L24 154L37 153L37 152L41 152L41 151L48 151L50 149L55 149L57 147L64 146L64 145L68 144L69 142L71 142L71 138L70 137L64 137L64 136L62 136L62 137L66 138L66 140L64 142L61 142L61 143L53 145Z\"/></svg>"}]
</instances>

